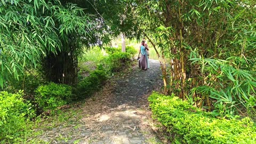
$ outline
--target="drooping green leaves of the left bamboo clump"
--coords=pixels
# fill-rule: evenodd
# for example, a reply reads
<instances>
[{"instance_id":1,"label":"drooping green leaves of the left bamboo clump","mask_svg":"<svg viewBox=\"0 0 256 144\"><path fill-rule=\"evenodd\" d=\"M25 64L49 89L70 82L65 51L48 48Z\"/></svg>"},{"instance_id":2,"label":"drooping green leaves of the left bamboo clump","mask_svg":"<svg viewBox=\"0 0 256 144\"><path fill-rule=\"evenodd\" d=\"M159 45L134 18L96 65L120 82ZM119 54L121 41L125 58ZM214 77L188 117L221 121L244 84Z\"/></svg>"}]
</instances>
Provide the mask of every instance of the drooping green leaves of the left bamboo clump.
<instances>
[{"instance_id":1,"label":"drooping green leaves of the left bamboo clump","mask_svg":"<svg viewBox=\"0 0 256 144\"><path fill-rule=\"evenodd\" d=\"M56 62L55 67L68 67L76 63L71 60L81 55L82 44L89 46L95 42L92 36L95 21L90 19L92 15L85 14L83 9L76 5L64 6L58 0L7 0L1 1L0 5L0 86L3 86L7 76L10 76L3 74L9 73L19 80L26 66L37 67L38 63L42 62L49 64L47 60L42 61L49 55L54 55L55 58L50 60L50 64ZM65 54L70 56L71 60L67 59ZM57 57L59 55L62 57ZM64 63L61 59L63 57L66 58L65 64L69 61L71 64L61 67ZM54 73L52 69L55 67L49 67L51 70L46 68L45 72L50 73L50 76L46 77L49 76L54 81L62 76L63 73ZM72 71L72 68L74 69L68 67L66 71ZM51 75L52 71L54 72ZM66 71L65 76L68 77Z\"/></svg>"}]
</instances>

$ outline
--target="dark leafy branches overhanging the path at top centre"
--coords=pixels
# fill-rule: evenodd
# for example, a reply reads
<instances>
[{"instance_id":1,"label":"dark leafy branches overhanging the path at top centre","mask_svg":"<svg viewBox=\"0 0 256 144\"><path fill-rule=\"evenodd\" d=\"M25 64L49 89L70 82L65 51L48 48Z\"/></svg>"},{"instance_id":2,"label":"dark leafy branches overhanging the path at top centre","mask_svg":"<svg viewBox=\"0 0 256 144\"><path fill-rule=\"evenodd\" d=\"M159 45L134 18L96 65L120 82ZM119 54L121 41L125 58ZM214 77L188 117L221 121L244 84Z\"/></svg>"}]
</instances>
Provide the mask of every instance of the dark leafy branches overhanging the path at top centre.
<instances>
[{"instance_id":1,"label":"dark leafy branches overhanging the path at top centre","mask_svg":"<svg viewBox=\"0 0 256 144\"><path fill-rule=\"evenodd\" d=\"M99 15L100 31L102 42L107 43L111 38L124 34L127 38L134 38L140 35L138 23L133 23L136 18L131 14L134 10L134 1L94 1L94 0L61 0L61 3L75 3L85 9L87 13Z\"/></svg>"}]
</instances>

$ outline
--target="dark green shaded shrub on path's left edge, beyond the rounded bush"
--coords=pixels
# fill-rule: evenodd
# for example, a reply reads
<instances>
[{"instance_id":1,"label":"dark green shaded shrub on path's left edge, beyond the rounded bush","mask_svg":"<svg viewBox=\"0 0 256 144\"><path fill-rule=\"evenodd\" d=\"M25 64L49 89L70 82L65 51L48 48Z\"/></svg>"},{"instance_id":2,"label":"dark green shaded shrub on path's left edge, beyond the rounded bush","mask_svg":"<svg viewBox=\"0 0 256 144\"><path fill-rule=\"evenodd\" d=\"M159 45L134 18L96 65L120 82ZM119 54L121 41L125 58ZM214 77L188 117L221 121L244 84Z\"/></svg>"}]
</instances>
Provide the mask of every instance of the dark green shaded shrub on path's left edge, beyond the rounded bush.
<instances>
[{"instance_id":1,"label":"dark green shaded shrub on path's left edge, beyond the rounded bush","mask_svg":"<svg viewBox=\"0 0 256 144\"><path fill-rule=\"evenodd\" d=\"M107 73L102 65L92 71L89 76L85 77L78 83L76 92L76 99L84 99L89 97L93 92L100 89L105 81L107 81Z\"/></svg>"}]
</instances>

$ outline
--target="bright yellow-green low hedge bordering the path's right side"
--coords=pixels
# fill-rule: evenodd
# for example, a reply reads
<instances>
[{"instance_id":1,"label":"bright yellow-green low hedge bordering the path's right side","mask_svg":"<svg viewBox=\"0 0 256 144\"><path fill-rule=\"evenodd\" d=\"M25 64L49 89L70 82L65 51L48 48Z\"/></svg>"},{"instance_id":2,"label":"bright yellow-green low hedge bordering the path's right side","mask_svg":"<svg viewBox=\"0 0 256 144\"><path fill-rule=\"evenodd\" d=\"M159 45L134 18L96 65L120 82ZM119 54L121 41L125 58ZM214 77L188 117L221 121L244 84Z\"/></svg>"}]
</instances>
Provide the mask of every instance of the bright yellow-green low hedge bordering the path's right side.
<instances>
[{"instance_id":1,"label":"bright yellow-green low hedge bordering the path's right side","mask_svg":"<svg viewBox=\"0 0 256 144\"><path fill-rule=\"evenodd\" d=\"M256 127L249 118L218 119L178 97L153 93L153 115L181 143L256 143Z\"/></svg>"}]
</instances>

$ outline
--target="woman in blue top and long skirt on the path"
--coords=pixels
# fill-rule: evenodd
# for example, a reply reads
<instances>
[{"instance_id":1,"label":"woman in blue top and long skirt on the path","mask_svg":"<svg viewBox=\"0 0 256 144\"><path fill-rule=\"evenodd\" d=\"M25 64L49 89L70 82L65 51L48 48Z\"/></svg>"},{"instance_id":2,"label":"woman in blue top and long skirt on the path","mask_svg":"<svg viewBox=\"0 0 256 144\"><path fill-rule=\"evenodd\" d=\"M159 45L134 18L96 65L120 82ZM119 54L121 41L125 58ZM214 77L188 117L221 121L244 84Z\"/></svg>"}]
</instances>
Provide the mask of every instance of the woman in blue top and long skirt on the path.
<instances>
[{"instance_id":1,"label":"woman in blue top and long skirt on the path","mask_svg":"<svg viewBox=\"0 0 256 144\"><path fill-rule=\"evenodd\" d=\"M139 68L143 69L143 70L147 70L149 69L149 61L148 61L148 55L146 53L146 50L148 50L148 47L145 46L145 41L141 42L141 46L140 46L140 60L139 60Z\"/></svg>"}]
</instances>

